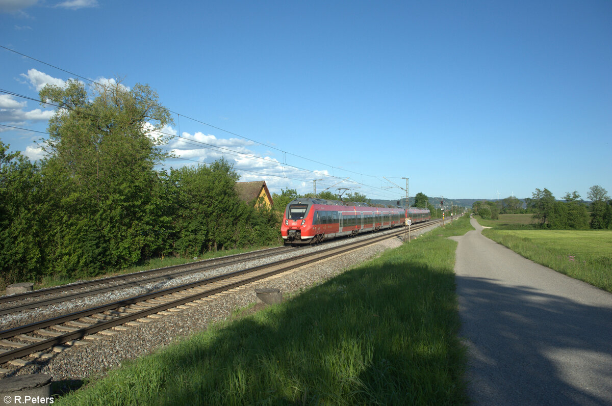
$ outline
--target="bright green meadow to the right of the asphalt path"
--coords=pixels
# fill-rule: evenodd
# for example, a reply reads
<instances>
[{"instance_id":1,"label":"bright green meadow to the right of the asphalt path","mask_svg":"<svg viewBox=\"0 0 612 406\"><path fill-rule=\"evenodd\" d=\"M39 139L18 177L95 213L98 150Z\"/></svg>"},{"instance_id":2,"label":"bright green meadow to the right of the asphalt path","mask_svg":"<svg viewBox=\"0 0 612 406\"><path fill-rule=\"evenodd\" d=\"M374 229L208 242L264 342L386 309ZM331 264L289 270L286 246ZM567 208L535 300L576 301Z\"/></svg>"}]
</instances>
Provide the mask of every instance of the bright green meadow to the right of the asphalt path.
<instances>
[{"instance_id":1,"label":"bright green meadow to the right of the asphalt path","mask_svg":"<svg viewBox=\"0 0 612 406\"><path fill-rule=\"evenodd\" d=\"M612 292L612 231L485 229L482 234L538 264Z\"/></svg>"}]
</instances>

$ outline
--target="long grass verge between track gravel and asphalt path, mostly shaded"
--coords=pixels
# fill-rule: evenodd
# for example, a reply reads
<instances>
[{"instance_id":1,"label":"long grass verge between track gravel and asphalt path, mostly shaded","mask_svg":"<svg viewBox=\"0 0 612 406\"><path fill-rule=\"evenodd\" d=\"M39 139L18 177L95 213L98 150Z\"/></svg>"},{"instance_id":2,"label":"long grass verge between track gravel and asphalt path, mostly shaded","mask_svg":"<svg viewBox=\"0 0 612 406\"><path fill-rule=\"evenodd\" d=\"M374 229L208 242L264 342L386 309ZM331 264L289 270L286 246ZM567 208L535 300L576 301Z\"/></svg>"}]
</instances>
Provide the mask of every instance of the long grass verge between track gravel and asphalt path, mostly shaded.
<instances>
[{"instance_id":1,"label":"long grass verge between track gravel and asphalt path, mostly shaded","mask_svg":"<svg viewBox=\"0 0 612 406\"><path fill-rule=\"evenodd\" d=\"M448 235L127 363L59 404L465 404Z\"/></svg>"}]
</instances>

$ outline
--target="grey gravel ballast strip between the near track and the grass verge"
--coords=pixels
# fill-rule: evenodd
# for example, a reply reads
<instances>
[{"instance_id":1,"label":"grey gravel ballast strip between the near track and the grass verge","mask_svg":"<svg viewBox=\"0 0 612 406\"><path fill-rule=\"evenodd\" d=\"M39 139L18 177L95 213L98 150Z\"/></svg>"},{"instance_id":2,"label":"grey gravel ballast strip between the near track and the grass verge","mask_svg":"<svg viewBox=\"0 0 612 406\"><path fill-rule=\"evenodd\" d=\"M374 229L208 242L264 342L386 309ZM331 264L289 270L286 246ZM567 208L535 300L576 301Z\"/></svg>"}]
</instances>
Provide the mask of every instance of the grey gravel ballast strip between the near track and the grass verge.
<instances>
[{"instance_id":1,"label":"grey gravel ballast strip between the near track and the grass verge","mask_svg":"<svg viewBox=\"0 0 612 406\"><path fill-rule=\"evenodd\" d=\"M430 231L432 225L412 235L420 235ZM344 240L346 241L346 240ZM333 242L342 243L342 241ZM19 367L10 375L43 373L53 377L54 381L78 380L103 375L108 369L121 365L123 360L154 352L177 338L202 331L210 323L231 317L235 309L244 308L255 302L255 289L274 287L283 293L295 293L313 284L326 281L348 268L354 267L365 260L377 256L386 249L401 245L398 238L389 238L384 242L343 254L333 259L323 260L306 265L294 271L289 271L274 278L253 282L244 287L228 292L218 293L212 300L196 306L174 312L168 316L152 319L151 322L130 327L125 331L117 331L111 336L100 336L99 339L87 341L84 345L73 345L64 352L54 353L53 358L44 362L36 361L27 366ZM326 248L329 245L326 245ZM313 247L312 249L321 249ZM253 266L253 265L251 265ZM225 270L226 271L226 270ZM258 304L258 306L261 306Z\"/></svg>"}]
</instances>

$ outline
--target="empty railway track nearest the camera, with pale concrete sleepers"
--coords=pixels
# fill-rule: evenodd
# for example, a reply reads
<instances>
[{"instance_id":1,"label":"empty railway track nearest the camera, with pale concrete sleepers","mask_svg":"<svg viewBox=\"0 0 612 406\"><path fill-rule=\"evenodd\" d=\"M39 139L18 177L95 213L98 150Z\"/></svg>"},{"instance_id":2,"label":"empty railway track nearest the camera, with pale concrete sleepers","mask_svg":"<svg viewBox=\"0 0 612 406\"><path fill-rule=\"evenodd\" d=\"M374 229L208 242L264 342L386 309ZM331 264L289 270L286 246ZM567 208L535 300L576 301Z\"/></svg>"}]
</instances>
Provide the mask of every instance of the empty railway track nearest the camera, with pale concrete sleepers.
<instances>
[{"instance_id":1,"label":"empty railway track nearest the camera, with pale concrete sleepers","mask_svg":"<svg viewBox=\"0 0 612 406\"><path fill-rule=\"evenodd\" d=\"M435 222L414 226L416 231ZM84 344L95 334L116 334L132 325L151 322L154 319L184 309L185 306L203 303L209 296L269 278L319 260L348 253L387 238L404 234L397 229L386 235L345 245L301 254L266 265L235 271L226 275L196 281L181 286L150 292L144 295L114 301L94 308L84 309L63 316L0 331L0 365L10 363L24 366L32 360L52 358L53 352L62 352L71 345ZM7 370L6 370L7 371Z\"/></svg>"}]
</instances>

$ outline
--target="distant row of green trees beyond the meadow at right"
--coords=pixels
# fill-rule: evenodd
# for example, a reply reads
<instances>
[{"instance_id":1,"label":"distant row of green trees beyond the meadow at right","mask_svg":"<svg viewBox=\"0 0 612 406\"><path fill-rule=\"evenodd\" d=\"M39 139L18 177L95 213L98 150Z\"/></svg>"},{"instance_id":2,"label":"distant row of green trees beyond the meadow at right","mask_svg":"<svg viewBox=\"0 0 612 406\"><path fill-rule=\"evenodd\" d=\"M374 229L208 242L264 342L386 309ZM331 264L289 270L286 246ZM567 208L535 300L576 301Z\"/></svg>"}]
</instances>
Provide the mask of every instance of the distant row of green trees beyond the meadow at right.
<instances>
[{"instance_id":1,"label":"distant row of green trees beyond the meadow at right","mask_svg":"<svg viewBox=\"0 0 612 406\"><path fill-rule=\"evenodd\" d=\"M612 229L612 200L602 186L589 188L587 197L581 199L577 191L565 193L557 200L550 190L536 188L531 197L523 201L506 197L502 201L477 201L472 205L474 213L482 218L499 218L499 214L532 213L535 225L549 229Z\"/></svg>"}]
</instances>

